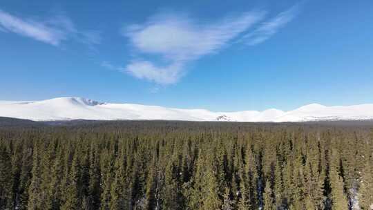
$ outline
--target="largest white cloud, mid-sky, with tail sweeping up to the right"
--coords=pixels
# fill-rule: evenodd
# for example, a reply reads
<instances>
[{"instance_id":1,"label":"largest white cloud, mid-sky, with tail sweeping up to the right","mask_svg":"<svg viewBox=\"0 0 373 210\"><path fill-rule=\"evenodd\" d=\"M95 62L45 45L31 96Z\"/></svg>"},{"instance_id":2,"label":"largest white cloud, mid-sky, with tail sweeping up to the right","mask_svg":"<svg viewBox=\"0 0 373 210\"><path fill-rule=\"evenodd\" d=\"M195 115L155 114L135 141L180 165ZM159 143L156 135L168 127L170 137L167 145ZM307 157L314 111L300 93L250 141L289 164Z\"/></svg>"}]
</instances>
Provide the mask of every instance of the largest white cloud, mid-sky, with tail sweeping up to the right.
<instances>
[{"instance_id":1,"label":"largest white cloud, mid-sky, with tail sweeping up to the right","mask_svg":"<svg viewBox=\"0 0 373 210\"><path fill-rule=\"evenodd\" d=\"M187 16L156 15L146 23L128 26L128 37L140 54L157 55L165 65L134 59L125 67L127 73L157 84L175 84L184 75L189 61L217 53L264 17L264 12L247 12L213 23L198 23Z\"/></svg>"}]
</instances>

